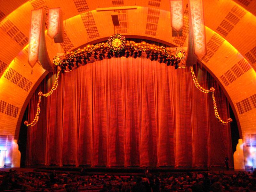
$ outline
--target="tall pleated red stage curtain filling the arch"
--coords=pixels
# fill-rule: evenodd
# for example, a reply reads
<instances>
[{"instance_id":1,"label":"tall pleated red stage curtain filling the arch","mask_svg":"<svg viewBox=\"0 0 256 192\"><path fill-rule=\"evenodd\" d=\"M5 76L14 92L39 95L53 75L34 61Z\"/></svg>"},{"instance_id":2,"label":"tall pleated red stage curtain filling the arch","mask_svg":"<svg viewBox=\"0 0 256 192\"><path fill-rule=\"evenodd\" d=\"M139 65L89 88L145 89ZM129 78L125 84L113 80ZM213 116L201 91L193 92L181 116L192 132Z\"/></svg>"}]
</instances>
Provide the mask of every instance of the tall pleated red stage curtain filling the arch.
<instances>
[{"instance_id":1,"label":"tall pleated red stage curtain filling the arch","mask_svg":"<svg viewBox=\"0 0 256 192\"><path fill-rule=\"evenodd\" d=\"M216 88L227 120L220 87L204 69L197 74L203 87ZM48 92L55 77L49 74L32 96L30 121L37 93ZM189 68L141 58L97 61L61 74L41 106L38 123L28 128L28 165L194 167L232 159L230 126L218 123L211 94L196 89Z\"/></svg>"}]
</instances>

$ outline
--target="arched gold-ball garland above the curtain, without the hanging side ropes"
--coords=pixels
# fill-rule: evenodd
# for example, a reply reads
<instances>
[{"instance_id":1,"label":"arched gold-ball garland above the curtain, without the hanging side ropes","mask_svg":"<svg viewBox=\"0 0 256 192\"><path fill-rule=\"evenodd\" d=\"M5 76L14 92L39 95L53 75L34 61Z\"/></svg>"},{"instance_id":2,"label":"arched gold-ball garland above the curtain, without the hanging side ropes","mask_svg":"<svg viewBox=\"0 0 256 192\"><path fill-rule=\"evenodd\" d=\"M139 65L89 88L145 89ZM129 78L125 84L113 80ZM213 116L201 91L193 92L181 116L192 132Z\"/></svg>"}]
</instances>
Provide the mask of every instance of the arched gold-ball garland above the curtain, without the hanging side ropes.
<instances>
[{"instance_id":1,"label":"arched gold-ball garland above the curtain, without the hanging side ropes","mask_svg":"<svg viewBox=\"0 0 256 192\"><path fill-rule=\"evenodd\" d=\"M167 66L172 65L175 69L185 68L184 63L183 66L179 65L186 57L186 53L183 50L174 51L171 47L157 46L145 41L141 43L126 41L125 43L125 37L121 34L110 36L107 43L88 44L86 47L78 48L74 52L66 52L62 57L56 56L53 59L53 63L64 73L94 60L111 59L112 57L137 58L141 56L147 57L152 61L166 63Z\"/></svg>"}]
</instances>

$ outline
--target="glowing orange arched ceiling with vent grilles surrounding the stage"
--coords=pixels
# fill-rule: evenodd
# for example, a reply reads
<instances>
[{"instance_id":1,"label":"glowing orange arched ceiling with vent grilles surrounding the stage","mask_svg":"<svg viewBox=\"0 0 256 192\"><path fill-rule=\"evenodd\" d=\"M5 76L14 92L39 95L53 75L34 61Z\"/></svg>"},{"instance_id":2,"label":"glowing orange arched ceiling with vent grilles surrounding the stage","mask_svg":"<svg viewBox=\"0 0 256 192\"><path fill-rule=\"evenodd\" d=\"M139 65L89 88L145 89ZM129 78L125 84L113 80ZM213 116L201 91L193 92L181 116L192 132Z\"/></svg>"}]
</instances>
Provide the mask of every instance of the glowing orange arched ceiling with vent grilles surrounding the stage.
<instances>
[{"instance_id":1,"label":"glowing orange arched ceiling with vent grilles surrounding the stage","mask_svg":"<svg viewBox=\"0 0 256 192\"><path fill-rule=\"evenodd\" d=\"M46 35L47 51L53 58L58 52L106 39L114 33L111 11L97 12L97 8L134 5L136 10L118 11L121 27L116 32L187 46L186 0L185 27L179 38L171 36L168 0L0 0L0 134L18 136L30 96L47 74L39 62L31 74L27 62L31 10L43 7L47 12L60 7L64 13L65 42L54 44ZM256 1L204 0L204 14L207 55L201 61L226 92L242 137L255 132L256 125Z\"/></svg>"}]
</instances>

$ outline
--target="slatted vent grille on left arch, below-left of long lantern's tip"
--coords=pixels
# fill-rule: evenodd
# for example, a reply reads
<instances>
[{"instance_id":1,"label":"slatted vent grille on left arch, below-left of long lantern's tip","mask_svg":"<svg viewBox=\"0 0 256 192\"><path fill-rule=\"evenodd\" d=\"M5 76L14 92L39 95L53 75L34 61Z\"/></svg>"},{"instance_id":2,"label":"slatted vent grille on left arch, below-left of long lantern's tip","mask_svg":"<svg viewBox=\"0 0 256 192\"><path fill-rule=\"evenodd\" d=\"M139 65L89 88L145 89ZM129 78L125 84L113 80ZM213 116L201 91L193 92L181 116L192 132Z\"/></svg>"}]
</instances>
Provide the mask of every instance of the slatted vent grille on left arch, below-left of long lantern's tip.
<instances>
[{"instance_id":1,"label":"slatted vent grille on left arch, below-left of long lantern's tip","mask_svg":"<svg viewBox=\"0 0 256 192\"><path fill-rule=\"evenodd\" d=\"M21 89L24 89L26 92L29 91L33 84L31 81L20 75L12 68L7 69L6 73L4 74L4 77L10 80L12 83L18 85Z\"/></svg>"}]
</instances>

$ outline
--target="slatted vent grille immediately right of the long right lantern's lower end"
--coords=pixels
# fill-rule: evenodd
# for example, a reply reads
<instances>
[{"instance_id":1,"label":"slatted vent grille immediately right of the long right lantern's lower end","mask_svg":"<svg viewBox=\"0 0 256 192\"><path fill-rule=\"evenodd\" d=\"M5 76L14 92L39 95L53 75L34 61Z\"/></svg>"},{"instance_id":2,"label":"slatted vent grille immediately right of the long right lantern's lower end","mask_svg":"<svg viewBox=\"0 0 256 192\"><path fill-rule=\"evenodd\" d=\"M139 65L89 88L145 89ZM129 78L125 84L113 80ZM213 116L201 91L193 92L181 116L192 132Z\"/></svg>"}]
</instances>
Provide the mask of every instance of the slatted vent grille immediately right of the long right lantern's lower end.
<instances>
[{"instance_id":1,"label":"slatted vent grille immediately right of the long right lantern's lower end","mask_svg":"<svg viewBox=\"0 0 256 192\"><path fill-rule=\"evenodd\" d=\"M224 38L222 38L219 34L215 33L209 42L206 44L206 52L207 54L202 58L202 60L207 63L214 53L220 48L220 46L225 41Z\"/></svg>"}]
</instances>

